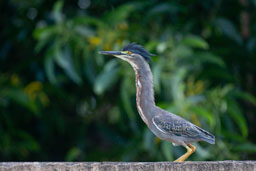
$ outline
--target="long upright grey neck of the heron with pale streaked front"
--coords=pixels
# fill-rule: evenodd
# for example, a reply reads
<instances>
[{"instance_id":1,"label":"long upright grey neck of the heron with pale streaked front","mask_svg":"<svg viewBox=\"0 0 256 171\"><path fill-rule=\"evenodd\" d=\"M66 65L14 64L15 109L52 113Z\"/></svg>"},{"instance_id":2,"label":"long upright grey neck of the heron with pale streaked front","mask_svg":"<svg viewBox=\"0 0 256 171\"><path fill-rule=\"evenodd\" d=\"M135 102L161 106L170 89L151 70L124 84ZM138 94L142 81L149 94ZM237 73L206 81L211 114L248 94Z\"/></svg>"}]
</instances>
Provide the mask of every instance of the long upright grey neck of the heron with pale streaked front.
<instances>
[{"instance_id":1,"label":"long upright grey neck of the heron with pale streaked front","mask_svg":"<svg viewBox=\"0 0 256 171\"><path fill-rule=\"evenodd\" d=\"M149 119L154 116L155 100L153 79L147 62L133 64L136 75L136 104L138 113L143 121L150 127Z\"/></svg>"}]
</instances>

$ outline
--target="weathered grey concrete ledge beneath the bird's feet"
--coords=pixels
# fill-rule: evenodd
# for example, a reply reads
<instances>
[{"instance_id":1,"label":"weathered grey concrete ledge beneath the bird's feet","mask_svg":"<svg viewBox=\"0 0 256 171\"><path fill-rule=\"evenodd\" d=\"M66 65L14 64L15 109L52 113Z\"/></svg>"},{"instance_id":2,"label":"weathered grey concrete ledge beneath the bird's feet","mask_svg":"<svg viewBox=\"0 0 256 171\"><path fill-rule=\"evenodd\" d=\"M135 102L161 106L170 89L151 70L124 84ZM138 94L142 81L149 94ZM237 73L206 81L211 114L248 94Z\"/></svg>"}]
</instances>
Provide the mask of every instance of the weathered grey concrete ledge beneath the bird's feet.
<instances>
[{"instance_id":1,"label":"weathered grey concrete ledge beneath the bird's feet","mask_svg":"<svg viewBox=\"0 0 256 171\"><path fill-rule=\"evenodd\" d=\"M256 161L217 162L0 162L1 171L256 171Z\"/></svg>"}]
</instances>

